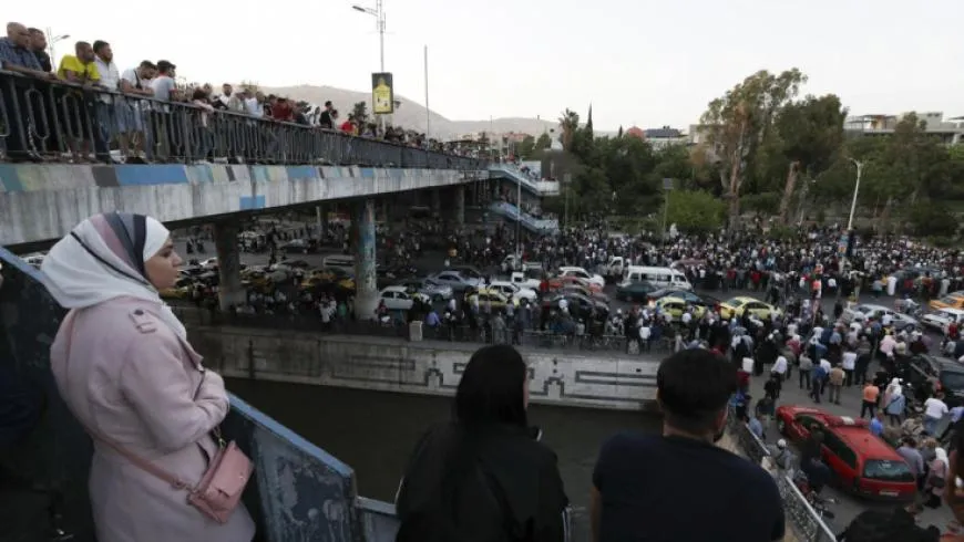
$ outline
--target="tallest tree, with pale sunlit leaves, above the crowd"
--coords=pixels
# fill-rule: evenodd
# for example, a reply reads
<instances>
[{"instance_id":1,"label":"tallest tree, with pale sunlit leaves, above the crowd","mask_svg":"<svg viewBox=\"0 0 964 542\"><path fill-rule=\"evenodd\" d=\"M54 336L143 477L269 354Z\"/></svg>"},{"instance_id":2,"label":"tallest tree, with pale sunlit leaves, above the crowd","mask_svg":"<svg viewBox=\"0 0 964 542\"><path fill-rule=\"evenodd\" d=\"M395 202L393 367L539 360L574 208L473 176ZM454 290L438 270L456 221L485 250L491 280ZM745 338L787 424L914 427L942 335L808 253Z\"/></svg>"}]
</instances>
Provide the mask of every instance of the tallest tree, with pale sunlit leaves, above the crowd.
<instances>
[{"instance_id":1,"label":"tallest tree, with pale sunlit leaves, above the crowd","mask_svg":"<svg viewBox=\"0 0 964 542\"><path fill-rule=\"evenodd\" d=\"M806 81L796 67L779 75L762 70L710 102L700 117L710 144L708 150L724 166L719 170L720 184L729 199L731 228L739 219L740 188L753 166L755 153L769 138L777 113Z\"/></svg>"}]
</instances>

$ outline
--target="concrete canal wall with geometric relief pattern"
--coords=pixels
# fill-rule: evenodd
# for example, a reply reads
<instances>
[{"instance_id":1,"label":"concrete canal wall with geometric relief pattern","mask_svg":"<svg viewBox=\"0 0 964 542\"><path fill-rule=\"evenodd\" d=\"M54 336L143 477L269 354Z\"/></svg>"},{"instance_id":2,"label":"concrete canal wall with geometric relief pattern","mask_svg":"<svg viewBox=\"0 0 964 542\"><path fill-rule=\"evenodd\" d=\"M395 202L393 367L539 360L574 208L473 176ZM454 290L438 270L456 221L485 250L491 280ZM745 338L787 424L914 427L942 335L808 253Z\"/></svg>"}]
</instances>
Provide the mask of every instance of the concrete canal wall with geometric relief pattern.
<instances>
[{"instance_id":1,"label":"concrete canal wall with geometric relief pattern","mask_svg":"<svg viewBox=\"0 0 964 542\"><path fill-rule=\"evenodd\" d=\"M192 327L205 365L225 376L421 395L454 395L479 345L349 335ZM655 357L520 348L535 403L652 409Z\"/></svg>"}]
</instances>

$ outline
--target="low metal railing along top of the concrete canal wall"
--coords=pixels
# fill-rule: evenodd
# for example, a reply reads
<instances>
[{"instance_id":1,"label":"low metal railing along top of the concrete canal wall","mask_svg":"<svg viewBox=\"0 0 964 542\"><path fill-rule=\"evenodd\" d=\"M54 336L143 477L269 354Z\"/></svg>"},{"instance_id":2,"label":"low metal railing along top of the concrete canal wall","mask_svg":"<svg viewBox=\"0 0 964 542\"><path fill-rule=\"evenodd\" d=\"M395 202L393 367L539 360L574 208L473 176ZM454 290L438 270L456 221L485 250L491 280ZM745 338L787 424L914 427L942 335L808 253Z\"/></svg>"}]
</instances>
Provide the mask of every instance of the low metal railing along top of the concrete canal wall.
<instances>
[{"instance_id":1,"label":"low metal railing along top of the concrete canal wall","mask_svg":"<svg viewBox=\"0 0 964 542\"><path fill-rule=\"evenodd\" d=\"M328 333L332 335L363 335L387 338L410 337L409 325L393 320L389 323L375 321L338 321L325 323L314 313L306 314L232 314L219 311L195 309L176 305L174 314L188 327L198 326L232 326L265 330L287 330L294 332ZM423 341L443 341L471 344L515 344L541 350L565 350L568 352L606 352L627 353L629 351L625 336L621 335L573 335L541 330L515 330L511 324L506 327L484 325L480 321L476 326L442 325L422 326ZM660 341L652 345L643 354L664 354L671 351L670 341ZM634 350L634 352L636 352Z\"/></svg>"}]
</instances>

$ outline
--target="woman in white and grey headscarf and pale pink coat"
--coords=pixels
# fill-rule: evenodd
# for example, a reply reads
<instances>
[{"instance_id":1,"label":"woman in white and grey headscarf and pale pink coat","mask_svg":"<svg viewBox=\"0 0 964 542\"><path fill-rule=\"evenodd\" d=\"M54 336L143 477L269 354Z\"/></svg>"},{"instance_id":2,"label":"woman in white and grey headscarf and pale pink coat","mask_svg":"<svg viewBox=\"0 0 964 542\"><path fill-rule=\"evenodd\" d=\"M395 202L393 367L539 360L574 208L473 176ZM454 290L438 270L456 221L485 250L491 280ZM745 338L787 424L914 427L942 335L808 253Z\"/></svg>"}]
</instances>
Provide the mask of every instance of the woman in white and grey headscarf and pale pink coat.
<instances>
[{"instance_id":1,"label":"woman in white and grey headscarf and pale pink coat","mask_svg":"<svg viewBox=\"0 0 964 542\"><path fill-rule=\"evenodd\" d=\"M58 389L94 441L89 490L100 542L249 541L243 504L221 524L187 490L148 473L121 447L188 483L217 451L211 432L228 411L224 381L206 371L158 291L181 258L167 229L122 212L91 217L59 241L41 271L69 309L51 346Z\"/></svg>"}]
</instances>

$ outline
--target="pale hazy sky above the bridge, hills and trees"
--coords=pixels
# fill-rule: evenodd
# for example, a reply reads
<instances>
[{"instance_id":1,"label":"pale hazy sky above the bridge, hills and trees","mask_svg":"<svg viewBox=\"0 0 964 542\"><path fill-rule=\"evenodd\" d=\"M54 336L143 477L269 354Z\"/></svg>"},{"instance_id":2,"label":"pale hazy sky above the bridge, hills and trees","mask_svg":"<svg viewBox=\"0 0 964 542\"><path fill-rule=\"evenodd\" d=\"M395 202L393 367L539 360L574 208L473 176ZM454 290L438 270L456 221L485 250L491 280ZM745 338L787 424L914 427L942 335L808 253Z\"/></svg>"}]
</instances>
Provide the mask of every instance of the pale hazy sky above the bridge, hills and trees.
<instances>
[{"instance_id":1,"label":"pale hazy sky above the bridge, hills and trees","mask_svg":"<svg viewBox=\"0 0 964 542\"><path fill-rule=\"evenodd\" d=\"M370 88L376 18L353 0L162 4L8 2L9 20L50 28L57 54L105 40L120 67L170 60L192 82ZM357 0L365 2L367 0ZM371 3L361 3L375 7ZM453 121L558 118L589 104L597 129L698 122L758 70L799 67L806 94L851 114L964 115L964 1L384 0L396 94Z\"/></svg>"}]
</instances>

